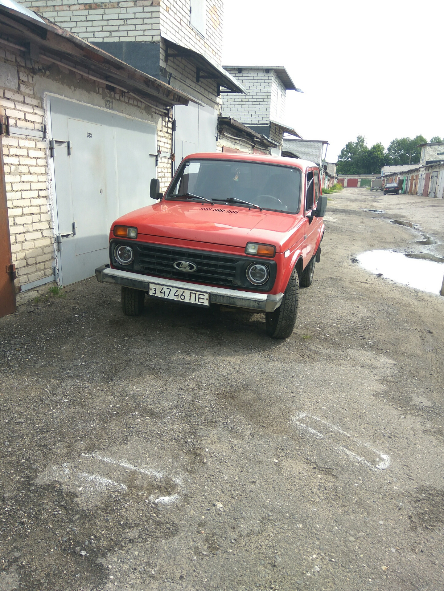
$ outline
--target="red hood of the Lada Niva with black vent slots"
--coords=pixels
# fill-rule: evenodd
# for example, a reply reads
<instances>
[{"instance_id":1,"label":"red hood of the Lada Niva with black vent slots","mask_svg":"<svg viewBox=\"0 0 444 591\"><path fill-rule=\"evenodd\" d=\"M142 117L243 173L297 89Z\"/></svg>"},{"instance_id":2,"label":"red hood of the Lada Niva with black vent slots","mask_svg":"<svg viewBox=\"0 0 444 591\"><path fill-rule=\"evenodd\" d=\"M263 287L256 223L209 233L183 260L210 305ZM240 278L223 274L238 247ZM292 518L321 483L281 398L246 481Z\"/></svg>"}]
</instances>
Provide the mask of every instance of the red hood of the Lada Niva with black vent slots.
<instances>
[{"instance_id":1,"label":"red hood of the Lada Niva with black vent slots","mask_svg":"<svg viewBox=\"0 0 444 591\"><path fill-rule=\"evenodd\" d=\"M138 235L162 236L244 248L247 242L287 246L301 215L162 200L120 217L115 223L136 226Z\"/></svg>"}]
</instances>

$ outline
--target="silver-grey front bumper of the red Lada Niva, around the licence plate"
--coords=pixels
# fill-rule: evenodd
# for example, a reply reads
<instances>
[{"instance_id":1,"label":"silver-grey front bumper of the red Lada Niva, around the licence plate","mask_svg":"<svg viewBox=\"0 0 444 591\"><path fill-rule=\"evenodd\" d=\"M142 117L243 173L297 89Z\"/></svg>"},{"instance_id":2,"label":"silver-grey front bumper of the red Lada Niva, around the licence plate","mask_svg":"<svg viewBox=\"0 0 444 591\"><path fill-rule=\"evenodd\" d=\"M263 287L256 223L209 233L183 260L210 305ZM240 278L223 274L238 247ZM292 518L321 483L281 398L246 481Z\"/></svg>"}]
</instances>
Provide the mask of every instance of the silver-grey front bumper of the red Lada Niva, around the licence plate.
<instances>
[{"instance_id":1,"label":"silver-grey front bumper of the red Lada Niva, around the licence plate","mask_svg":"<svg viewBox=\"0 0 444 591\"><path fill-rule=\"evenodd\" d=\"M247 308L249 310L258 310L258 312L274 312L281 306L282 297L284 296L283 293L261 294L252 291L227 290L223 287L212 287L210 285L163 279L161 277L150 277L150 275L110 269L109 265L102 265L102 267L96 268L95 276L97 281L101 283L117 283L118 285L124 285L125 287L132 287L142 291L149 291L150 281L179 290L205 291L205 293L210 294L210 302L212 304L224 304L224 306Z\"/></svg>"}]
</instances>

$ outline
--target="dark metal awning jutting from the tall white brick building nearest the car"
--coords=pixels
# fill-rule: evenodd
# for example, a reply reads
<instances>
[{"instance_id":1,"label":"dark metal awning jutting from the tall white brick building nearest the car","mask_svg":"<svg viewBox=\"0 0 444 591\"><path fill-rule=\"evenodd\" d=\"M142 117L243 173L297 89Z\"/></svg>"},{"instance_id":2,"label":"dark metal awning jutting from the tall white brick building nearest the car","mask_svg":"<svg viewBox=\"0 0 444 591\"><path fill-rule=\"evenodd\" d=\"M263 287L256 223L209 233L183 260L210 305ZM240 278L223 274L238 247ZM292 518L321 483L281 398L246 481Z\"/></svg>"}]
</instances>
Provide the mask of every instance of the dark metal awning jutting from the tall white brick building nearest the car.
<instances>
[{"instance_id":1,"label":"dark metal awning jutting from the tall white brick building nearest the car","mask_svg":"<svg viewBox=\"0 0 444 591\"><path fill-rule=\"evenodd\" d=\"M168 63L168 59L171 57L184 57L196 68L196 82L199 83L201 80L210 79L217 82L218 93L241 93L247 94L242 84L240 84L236 78L231 76L222 66L215 63L208 54L199 53L193 49L182 47L177 43L173 43L168 38L163 37L166 45L165 61Z\"/></svg>"}]
</instances>

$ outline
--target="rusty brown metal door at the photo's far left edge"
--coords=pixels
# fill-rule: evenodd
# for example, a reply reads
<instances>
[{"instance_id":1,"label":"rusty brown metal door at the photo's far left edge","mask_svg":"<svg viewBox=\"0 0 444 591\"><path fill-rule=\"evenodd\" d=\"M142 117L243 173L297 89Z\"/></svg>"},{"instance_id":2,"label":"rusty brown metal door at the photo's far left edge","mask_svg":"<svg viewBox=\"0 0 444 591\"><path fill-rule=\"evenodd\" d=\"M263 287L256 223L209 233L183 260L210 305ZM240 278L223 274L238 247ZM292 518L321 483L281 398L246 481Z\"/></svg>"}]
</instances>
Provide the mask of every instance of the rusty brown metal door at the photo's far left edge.
<instances>
[{"instance_id":1,"label":"rusty brown metal door at the photo's far left edge","mask_svg":"<svg viewBox=\"0 0 444 591\"><path fill-rule=\"evenodd\" d=\"M2 130L4 116L0 115L0 317L15 312L15 265L12 264L9 236L8 203L6 200L5 167L3 163Z\"/></svg>"}]
</instances>

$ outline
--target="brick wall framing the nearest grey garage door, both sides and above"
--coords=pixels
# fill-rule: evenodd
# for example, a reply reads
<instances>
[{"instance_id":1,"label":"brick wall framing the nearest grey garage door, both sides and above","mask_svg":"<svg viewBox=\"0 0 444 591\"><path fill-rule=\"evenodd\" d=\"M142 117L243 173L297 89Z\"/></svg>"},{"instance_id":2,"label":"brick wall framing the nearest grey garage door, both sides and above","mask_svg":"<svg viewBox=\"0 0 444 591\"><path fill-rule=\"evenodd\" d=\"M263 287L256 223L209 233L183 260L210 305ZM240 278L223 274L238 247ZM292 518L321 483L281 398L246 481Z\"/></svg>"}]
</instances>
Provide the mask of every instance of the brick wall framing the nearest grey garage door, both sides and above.
<instances>
[{"instance_id":1,"label":"brick wall framing the nearest grey garage door, both sides and above","mask_svg":"<svg viewBox=\"0 0 444 591\"><path fill-rule=\"evenodd\" d=\"M7 73L8 76L2 76ZM15 74L14 74L15 73ZM9 87L5 86L9 80ZM157 146L170 153L172 123L168 116L124 93L110 92L105 85L55 64L38 64L18 50L0 44L0 106L9 116L11 135L2 137L11 232L12 258L17 269L17 291L26 284L52 277L57 266L54 246L52 178L48 167L47 140L43 139L44 93L52 92L92 106L111 106L112 111L157 123ZM24 135L15 135L15 127ZM31 134L40 135L40 138ZM149 155L147 154L147 158ZM171 179L169 158L160 157L157 175L161 190ZM18 293L17 302L33 298L49 285Z\"/></svg>"}]
</instances>

